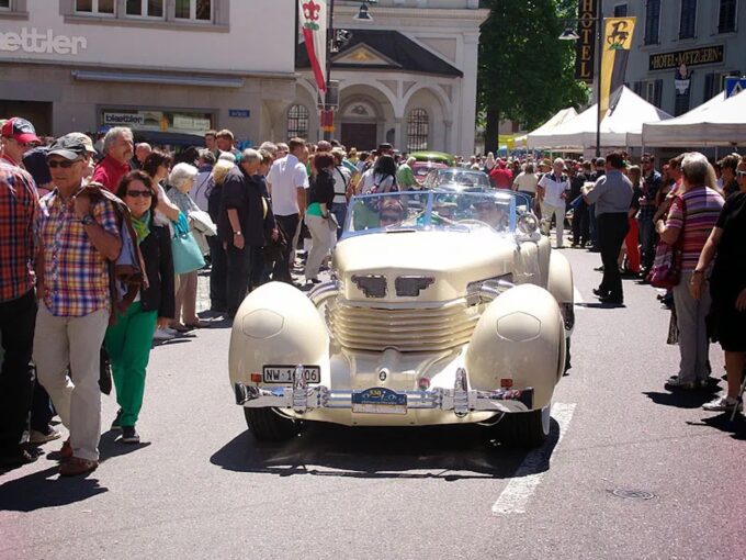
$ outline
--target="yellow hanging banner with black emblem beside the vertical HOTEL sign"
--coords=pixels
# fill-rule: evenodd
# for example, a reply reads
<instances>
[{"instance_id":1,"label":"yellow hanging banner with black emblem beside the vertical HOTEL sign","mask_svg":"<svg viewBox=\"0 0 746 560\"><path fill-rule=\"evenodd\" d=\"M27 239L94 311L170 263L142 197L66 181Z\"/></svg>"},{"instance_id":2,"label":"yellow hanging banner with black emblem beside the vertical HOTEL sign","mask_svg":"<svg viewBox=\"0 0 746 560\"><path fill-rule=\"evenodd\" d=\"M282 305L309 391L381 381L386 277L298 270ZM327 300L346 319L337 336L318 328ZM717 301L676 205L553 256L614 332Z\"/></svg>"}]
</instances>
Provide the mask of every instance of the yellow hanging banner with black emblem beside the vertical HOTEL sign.
<instances>
[{"instance_id":1,"label":"yellow hanging banner with black emblem beside the vertical HOTEL sign","mask_svg":"<svg viewBox=\"0 0 746 560\"><path fill-rule=\"evenodd\" d=\"M609 97L624 85L626 61L632 48L635 18L609 18L603 25L601 48L601 115L609 109Z\"/></svg>"}]
</instances>

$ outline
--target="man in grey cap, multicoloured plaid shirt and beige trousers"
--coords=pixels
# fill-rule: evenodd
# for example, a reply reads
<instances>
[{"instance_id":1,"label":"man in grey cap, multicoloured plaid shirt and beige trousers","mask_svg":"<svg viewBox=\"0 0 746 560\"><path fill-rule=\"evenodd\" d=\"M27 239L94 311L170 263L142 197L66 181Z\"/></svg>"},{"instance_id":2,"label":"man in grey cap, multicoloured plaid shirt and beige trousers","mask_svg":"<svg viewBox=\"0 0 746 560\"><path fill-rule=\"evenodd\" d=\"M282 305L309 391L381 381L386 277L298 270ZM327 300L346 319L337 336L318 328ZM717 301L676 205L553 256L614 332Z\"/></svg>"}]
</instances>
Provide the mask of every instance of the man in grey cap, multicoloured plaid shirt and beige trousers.
<instances>
[{"instance_id":1,"label":"man in grey cap, multicoloured plaid shirt and beige trousers","mask_svg":"<svg viewBox=\"0 0 746 560\"><path fill-rule=\"evenodd\" d=\"M64 136L49 148L47 164L55 190L42 199L36 221L41 304L34 361L70 432L60 475L75 475L99 464L100 348L112 306L109 261L117 258L122 239L112 203L79 194L86 187L86 145Z\"/></svg>"}]
</instances>

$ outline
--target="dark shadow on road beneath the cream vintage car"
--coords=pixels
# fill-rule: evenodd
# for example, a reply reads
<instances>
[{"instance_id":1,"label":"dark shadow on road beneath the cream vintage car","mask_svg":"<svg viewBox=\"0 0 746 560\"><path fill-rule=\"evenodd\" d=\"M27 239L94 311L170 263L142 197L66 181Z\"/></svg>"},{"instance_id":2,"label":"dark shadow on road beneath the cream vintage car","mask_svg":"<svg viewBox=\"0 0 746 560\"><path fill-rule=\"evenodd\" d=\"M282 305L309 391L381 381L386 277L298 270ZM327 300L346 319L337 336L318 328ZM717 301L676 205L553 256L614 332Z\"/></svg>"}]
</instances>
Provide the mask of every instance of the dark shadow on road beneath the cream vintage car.
<instances>
[{"instance_id":1,"label":"dark shadow on road beneath the cream vintage car","mask_svg":"<svg viewBox=\"0 0 746 560\"><path fill-rule=\"evenodd\" d=\"M257 441L244 432L211 457L211 462L237 472L291 477L360 479L507 479L529 453L534 474L549 470L560 437L552 419L544 446L531 451L510 448L481 426L417 428L346 427L314 423L282 444ZM534 459L536 458L534 457Z\"/></svg>"}]
</instances>

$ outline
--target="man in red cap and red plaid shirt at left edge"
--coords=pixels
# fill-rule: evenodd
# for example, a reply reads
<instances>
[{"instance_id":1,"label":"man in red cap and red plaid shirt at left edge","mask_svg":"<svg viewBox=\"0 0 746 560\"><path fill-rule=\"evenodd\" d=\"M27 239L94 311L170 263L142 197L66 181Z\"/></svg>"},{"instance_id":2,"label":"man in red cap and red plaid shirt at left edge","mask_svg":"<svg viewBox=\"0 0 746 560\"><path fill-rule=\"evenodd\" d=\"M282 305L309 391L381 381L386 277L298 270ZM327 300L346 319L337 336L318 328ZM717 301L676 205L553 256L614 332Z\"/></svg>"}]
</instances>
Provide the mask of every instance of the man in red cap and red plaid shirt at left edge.
<instances>
[{"instance_id":1,"label":"man in red cap and red plaid shirt at left edge","mask_svg":"<svg viewBox=\"0 0 746 560\"><path fill-rule=\"evenodd\" d=\"M21 448L34 388L31 366L36 318L33 227L38 197L32 177L0 160L0 467L35 460Z\"/></svg>"}]
</instances>

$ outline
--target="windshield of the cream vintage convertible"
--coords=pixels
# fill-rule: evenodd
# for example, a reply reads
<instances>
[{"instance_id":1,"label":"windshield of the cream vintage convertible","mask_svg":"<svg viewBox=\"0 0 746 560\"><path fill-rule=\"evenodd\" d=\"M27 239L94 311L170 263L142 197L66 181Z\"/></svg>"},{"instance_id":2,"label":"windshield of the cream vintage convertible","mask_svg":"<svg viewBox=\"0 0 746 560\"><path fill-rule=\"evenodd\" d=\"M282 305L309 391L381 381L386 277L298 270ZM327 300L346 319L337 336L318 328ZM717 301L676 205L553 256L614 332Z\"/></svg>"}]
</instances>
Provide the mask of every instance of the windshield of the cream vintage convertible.
<instances>
[{"instance_id":1,"label":"windshield of the cream vintage convertible","mask_svg":"<svg viewBox=\"0 0 746 560\"><path fill-rule=\"evenodd\" d=\"M363 194L350 201L343 236L412 229L512 233L529 209L528 198L510 191Z\"/></svg>"}]
</instances>

